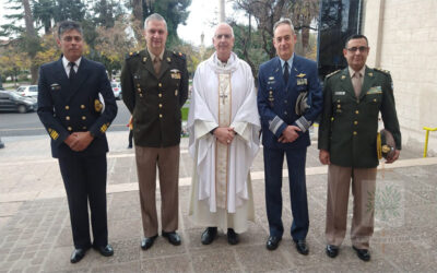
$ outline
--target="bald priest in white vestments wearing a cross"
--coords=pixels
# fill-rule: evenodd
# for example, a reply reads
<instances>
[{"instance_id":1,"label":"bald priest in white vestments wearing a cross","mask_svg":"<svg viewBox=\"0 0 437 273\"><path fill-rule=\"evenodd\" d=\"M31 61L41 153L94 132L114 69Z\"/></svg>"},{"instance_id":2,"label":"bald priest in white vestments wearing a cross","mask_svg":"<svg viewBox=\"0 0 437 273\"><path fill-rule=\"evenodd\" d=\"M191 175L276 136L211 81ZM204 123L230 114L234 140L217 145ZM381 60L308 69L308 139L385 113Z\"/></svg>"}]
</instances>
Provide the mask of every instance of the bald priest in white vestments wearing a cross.
<instances>
[{"instance_id":1,"label":"bald priest in white vestments wearing a cross","mask_svg":"<svg viewBox=\"0 0 437 273\"><path fill-rule=\"evenodd\" d=\"M232 52L232 27L220 24L213 43L216 51L196 70L188 115L194 159L189 215L206 226L203 245L214 240L217 227L236 245L248 221L255 221L249 171L260 120L250 67Z\"/></svg>"}]
</instances>

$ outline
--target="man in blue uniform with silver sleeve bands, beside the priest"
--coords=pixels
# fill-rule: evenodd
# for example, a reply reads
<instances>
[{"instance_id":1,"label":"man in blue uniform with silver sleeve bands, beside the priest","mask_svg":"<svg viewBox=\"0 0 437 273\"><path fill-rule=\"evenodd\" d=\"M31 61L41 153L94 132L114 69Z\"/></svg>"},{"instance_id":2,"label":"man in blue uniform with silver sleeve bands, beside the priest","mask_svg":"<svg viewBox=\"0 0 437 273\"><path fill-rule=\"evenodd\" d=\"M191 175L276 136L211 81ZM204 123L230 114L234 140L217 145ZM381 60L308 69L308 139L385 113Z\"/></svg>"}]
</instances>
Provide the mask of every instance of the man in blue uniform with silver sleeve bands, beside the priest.
<instances>
[{"instance_id":1,"label":"man in blue uniform with silver sleeve bands, beside the priest","mask_svg":"<svg viewBox=\"0 0 437 273\"><path fill-rule=\"evenodd\" d=\"M261 64L258 75L270 229L267 248L276 249L284 233L281 188L285 154L293 212L291 234L297 251L308 254L305 240L309 226L305 162L310 145L308 129L321 111L322 93L316 62L294 54L296 34L292 21L276 22L273 32L273 45L279 57Z\"/></svg>"}]
</instances>

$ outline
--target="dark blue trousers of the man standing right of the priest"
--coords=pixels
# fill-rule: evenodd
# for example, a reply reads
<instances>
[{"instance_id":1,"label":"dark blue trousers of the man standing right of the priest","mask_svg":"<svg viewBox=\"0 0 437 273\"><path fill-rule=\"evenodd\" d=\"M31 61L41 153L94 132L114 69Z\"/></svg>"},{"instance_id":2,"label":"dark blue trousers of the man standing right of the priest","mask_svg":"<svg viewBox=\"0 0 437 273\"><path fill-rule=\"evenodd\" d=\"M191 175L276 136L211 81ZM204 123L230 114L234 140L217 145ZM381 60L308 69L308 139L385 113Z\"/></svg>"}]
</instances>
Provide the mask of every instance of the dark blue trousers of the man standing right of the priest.
<instances>
[{"instance_id":1,"label":"dark blue trousers of the man standing right of the priest","mask_svg":"<svg viewBox=\"0 0 437 273\"><path fill-rule=\"evenodd\" d=\"M308 202L305 182L307 147L274 150L264 147L265 206L270 236L282 237L282 166L286 156L288 166L290 198L292 201L293 240L305 239L308 234Z\"/></svg>"}]
</instances>

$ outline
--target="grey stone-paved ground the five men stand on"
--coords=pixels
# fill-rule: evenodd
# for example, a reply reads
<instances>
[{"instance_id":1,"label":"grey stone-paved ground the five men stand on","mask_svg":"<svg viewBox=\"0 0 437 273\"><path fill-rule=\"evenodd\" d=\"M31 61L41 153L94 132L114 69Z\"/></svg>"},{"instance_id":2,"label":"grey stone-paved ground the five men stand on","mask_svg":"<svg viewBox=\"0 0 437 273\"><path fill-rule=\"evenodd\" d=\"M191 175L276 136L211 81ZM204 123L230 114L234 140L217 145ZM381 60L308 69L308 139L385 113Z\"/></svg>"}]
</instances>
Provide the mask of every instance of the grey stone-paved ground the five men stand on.
<instances>
[{"instance_id":1,"label":"grey stone-paved ground the five men stand on","mask_svg":"<svg viewBox=\"0 0 437 273\"><path fill-rule=\"evenodd\" d=\"M316 133L315 133L316 135ZM47 135L7 136L0 150L0 273L2 272L435 272L437 268L437 157L421 158L421 151L403 150L400 159L381 164L375 205L371 261L361 261L351 247L352 197L349 229L335 259L324 253L327 167L318 162L317 140L307 156L310 229L309 256L297 253L290 232L279 249L265 249L268 223L264 203L262 150L252 168L256 222L229 246L226 236L210 246L200 242L204 227L188 217L192 162L188 140L181 142L179 233L181 246L163 237L147 251L142 238L134 154L128 150L128 131L108 132L108 228L114 257L95 250L76 264L70 217L57 161ZM285 163L284 163L285 164ZM286 166L284 165L284 170ZM283 222L292 215L287 173L283 183ZM161 206L160 193L156 194ZM369 207L371 209L371 207ZM160 213L160 210L158 210Z\"/></svg>"}]
</instances>

